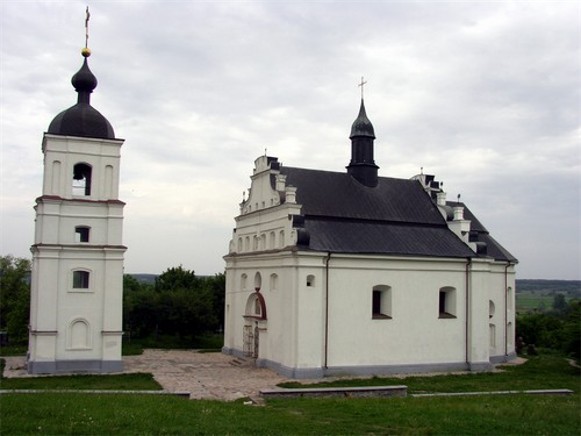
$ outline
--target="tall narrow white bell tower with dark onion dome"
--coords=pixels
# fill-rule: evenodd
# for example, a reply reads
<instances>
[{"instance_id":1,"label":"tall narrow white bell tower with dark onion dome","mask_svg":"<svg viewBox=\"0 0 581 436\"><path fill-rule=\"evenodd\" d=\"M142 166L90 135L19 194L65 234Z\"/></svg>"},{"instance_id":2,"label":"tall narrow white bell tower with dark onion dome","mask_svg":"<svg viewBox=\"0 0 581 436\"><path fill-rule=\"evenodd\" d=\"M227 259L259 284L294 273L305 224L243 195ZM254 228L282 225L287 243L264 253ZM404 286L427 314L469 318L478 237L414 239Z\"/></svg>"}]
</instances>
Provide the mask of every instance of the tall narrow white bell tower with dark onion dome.
<instances>
[{"instance_id":1,"label":"tall narrow white bell tower with dark onion dome","mask_svg":"<svg viewBox=\"0 0 581 436\"><path fill-rule=\"evenodd\" d=\"M87 10L87 28L89 14ZM43 136L44 178L36 199L28 372L117 372L121 360L122 139L91 106L97 78L86 47L72 84L77 104Z\"/></svg>"}]
</instances>

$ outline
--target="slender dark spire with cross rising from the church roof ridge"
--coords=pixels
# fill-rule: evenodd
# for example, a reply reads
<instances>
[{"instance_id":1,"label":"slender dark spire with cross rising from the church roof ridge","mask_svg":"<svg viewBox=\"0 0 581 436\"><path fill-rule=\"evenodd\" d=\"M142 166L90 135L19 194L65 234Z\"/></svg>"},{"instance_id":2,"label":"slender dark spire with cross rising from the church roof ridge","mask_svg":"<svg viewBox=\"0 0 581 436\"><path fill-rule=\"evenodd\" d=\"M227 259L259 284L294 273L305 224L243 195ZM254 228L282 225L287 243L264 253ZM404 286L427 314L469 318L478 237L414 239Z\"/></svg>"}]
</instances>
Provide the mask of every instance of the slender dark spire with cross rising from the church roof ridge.
<instances>
[{"instance_id":1,"label":"slender dark spire with cross rising from the church roof ridge","mask_svg":"<svg viewBox=\"0 0 581 436\"><path fill-rule=\"evenodd\" d=\"M359 114L351 126L351 161L347 166L347 172L365 186L371 188L377 186L377 170L373 158L373 141L375 131L373 124L367 118L365 102L363 100L363 85L367 83L361 78L361 106Z\"/></svg>"}]
</instances>

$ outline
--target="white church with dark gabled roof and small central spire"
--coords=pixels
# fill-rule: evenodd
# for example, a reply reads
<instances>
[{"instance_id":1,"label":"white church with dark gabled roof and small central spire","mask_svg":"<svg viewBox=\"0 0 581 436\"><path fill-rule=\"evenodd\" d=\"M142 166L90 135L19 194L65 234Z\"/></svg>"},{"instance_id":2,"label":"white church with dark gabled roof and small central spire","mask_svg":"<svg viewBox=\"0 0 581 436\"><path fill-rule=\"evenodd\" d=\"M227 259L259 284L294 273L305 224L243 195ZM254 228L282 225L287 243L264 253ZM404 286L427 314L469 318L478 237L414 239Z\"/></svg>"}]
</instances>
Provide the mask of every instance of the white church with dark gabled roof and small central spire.
<instances>
[{"instance_id":1,"label":"white church with dark gabled roof and small central spire","mask_svg":"<svg viewBox=\"0 0 581 436\"><path fill-rule=\"evenodd\" d=\"M378 175L363 96L350 139L346 172L255 160L224 257L223 352L291 378L514 358L517 260L434 176Z\"/></svg>"}]
</instances>

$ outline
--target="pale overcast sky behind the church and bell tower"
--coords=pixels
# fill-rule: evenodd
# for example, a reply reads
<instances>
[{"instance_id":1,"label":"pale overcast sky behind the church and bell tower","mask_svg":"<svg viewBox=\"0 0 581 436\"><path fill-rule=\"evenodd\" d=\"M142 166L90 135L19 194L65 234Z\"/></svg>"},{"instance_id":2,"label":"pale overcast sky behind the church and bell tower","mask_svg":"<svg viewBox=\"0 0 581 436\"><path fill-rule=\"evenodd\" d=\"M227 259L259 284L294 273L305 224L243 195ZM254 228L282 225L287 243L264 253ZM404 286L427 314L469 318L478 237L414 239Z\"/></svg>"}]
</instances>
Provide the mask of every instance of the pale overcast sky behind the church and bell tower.
<instances>
[{"instance_id":1,"label":"pale overcast sky behind the church and bell tower","mask_svg":"<svg viewBox=\"0 0 581 436\"><path fill-rule=\"evenodd\" d=\"M30 257L86 4L0 1L2 255ZM365 76L380 175L435 174L518 278L581 278L579 2L88 4L91 102L126 140L126 272L222 272L254 159L345 171Z\"/></svg>"}]
</instances>

